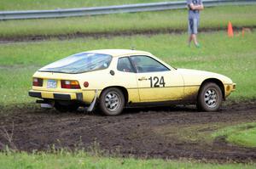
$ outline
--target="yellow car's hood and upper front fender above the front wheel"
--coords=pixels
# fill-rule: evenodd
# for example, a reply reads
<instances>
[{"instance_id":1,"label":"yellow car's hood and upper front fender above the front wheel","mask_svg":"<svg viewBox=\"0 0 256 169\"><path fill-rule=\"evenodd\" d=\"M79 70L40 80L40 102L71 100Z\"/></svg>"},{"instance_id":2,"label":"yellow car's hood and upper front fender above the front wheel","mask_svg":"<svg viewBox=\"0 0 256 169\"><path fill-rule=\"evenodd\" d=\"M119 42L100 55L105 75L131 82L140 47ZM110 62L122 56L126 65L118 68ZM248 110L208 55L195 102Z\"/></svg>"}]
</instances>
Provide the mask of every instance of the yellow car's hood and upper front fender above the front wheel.
<instances>
[{"instance_id":1,"label":"yellow car's hood and upper front fender above the front wheel","mask_svg":"<svg viewBox=\"0 0 256 169\"><path fill-rule=\"evenodd\" d=\"M215 78L224 84L232 84L232 80L224 75L203 70L177 69L177 72L183 76L185 85L201 85L206 79Z\"/></svg>"}]
</instances>

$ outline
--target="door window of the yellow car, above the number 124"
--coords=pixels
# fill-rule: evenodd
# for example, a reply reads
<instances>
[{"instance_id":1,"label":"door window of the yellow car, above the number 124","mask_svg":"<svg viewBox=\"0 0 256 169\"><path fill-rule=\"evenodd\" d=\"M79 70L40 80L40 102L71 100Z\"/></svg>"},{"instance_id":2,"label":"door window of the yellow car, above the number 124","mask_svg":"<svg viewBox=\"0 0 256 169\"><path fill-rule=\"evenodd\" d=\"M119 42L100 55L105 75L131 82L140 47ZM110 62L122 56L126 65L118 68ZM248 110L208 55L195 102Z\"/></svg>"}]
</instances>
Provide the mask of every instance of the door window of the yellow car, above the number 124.
<instances>
[{"instance_id":1,"label":"door window of the yellow car, above the number 124","mask_svg":"<svg viewBox=\"0 0 256 169\"><path fill-rule=\"evenodd\" d=\"M165 65L148 56L131 56L131 61L138 73L169 70Z\"/></svg>"}]
</instances>

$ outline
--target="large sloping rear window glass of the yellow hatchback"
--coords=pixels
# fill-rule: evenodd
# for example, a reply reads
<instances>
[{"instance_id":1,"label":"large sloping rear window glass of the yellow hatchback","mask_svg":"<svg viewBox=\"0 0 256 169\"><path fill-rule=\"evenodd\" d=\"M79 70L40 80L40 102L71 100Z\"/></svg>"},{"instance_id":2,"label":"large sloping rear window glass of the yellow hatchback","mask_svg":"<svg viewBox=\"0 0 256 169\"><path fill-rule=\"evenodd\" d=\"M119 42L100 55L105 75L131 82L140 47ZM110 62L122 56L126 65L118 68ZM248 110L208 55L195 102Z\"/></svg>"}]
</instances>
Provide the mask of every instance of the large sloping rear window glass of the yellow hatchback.
<instances>
[{"instance_id":1,"label":"large sloping rear window glass of the yellow hatchback","mask_svg":"<svg viewBox=\"0 0 256 169\"><path fill-rule=\"evenodd\" d=\"M82 73L108 68L112 56L108 54L80 53L46 65L39 71Z\"/></svg>"}]
</instances>

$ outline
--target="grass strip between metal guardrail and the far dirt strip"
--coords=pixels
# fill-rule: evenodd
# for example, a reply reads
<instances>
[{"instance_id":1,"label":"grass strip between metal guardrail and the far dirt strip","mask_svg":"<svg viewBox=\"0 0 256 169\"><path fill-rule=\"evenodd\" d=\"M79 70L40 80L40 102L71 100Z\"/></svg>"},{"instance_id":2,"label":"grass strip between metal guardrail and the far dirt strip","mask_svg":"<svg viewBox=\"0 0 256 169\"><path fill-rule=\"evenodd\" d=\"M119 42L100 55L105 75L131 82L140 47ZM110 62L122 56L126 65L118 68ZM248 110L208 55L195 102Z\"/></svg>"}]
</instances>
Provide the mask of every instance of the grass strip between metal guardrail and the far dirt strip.
<instances>
[{"instance_id":1,"label":"grass strip between metal guardrail and the far dirt strip","mask_svg":"<svg viewBox=\"0 0 256 169\"><path fill-rule=\"evenodd\" d=\"M255 26L256 5L206 8L201 12L200 28ZM114 33L119 31L187 31L188 11L167 10L136 14L109 14L48 20L0 21L0 37L53 36L82 33Z\"/></svg>"}]
</instances>

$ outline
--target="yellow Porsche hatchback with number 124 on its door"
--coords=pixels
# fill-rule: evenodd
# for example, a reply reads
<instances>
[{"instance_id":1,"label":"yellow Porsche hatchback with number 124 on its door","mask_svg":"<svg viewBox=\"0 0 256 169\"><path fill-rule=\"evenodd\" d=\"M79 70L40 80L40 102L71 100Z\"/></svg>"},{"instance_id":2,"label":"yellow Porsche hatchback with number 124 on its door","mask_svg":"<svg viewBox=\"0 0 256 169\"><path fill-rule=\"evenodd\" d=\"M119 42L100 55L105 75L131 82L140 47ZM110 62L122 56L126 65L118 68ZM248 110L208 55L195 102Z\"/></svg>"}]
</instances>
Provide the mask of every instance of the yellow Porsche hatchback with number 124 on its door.
<instances>
[{"instance_id":1,"label":"yellow Porsche hatchback with number 124 on its door","mask_svg":"<svg viewBox=\"0 0 256 169\"><path fill-rule=\"evenodd\" d=\"M137 50L105 49L73 54L39 69L29 95L60 111L98 107L119 115L125 106L196 104L217 111L236 90L229 77L212 72L176 69Z\"/></svg>"}]
</instances>

